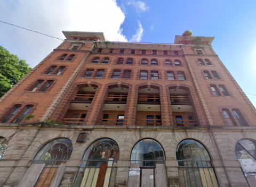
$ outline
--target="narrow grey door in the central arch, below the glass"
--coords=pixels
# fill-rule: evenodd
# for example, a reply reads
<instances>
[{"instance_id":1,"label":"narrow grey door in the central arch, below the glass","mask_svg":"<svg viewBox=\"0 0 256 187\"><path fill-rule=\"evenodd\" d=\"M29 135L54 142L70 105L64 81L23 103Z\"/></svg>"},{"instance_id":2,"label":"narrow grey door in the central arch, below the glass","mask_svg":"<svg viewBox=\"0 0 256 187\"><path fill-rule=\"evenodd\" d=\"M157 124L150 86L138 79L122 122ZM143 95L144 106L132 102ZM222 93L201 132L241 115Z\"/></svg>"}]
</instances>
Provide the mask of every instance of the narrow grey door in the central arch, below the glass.
<instances>
[{"instance_id":1,"label":"narrow grey door in the central arch, below the glass","mask_svg":"<svg viewBox=\"0 0 256 187\"><path fill-rule=\"evenodd\" d=\"M155 187L155 168L141 168L140 187Z\"/></svg>"}]
</instances>

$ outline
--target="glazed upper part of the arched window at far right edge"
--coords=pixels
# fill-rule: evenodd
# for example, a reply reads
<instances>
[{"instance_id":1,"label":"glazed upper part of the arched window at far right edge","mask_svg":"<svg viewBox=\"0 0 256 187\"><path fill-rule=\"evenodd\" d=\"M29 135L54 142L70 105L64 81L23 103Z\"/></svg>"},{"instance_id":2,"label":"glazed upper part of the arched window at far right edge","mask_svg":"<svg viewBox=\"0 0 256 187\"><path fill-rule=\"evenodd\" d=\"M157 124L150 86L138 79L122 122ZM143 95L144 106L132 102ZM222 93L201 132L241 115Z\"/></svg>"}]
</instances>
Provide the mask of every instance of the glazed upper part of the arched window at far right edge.
<instances>
[{"instance_id":1,"label":"glazed upper part of the arched window at far right edge","mask_svg":"<svg viewBox=\"0 0 256 187\"><path fill-rule=\"evenodd\" d=\"M235 154L237 159L251 158L256 160L256 141L249 139L239 140L235 146Z\"/></svg>"}]
</instances>

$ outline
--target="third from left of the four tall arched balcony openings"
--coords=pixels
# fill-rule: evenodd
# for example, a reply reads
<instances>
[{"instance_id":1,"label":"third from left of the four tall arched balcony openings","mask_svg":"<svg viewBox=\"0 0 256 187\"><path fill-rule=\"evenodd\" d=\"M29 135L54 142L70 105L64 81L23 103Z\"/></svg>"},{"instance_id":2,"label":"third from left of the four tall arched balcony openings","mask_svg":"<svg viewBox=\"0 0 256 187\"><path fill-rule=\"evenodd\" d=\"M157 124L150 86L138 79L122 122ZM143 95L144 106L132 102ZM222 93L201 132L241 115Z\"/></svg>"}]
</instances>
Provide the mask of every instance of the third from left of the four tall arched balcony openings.
<instances>
[{"instance_id":1,"label":"third from left of the four tall arched balcony openings","mask_svg":"<svg viewBox=\"0 0 256 187\"><path fill-rule=\"evenodd\" d=\"M160 88L153 85L143 85L138 88L136 125L161 126Z\"/></svg>"}]
</instances>

